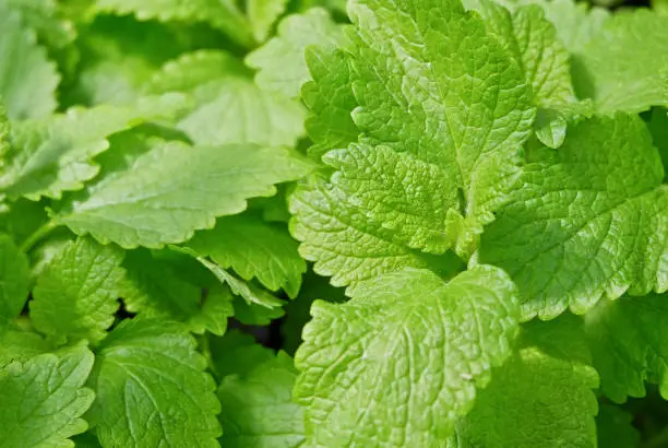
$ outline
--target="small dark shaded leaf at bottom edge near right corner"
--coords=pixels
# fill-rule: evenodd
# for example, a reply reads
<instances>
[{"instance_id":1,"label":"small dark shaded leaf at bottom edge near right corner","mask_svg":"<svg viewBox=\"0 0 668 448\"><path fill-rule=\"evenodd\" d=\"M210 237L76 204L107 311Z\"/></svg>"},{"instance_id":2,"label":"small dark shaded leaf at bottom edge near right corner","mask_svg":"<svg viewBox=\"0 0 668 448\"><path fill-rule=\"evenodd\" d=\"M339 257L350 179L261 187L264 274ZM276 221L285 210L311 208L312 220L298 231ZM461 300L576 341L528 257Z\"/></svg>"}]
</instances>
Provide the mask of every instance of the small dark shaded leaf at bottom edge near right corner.
<instances>
[{"instance_id":1,"label":"small dark shaded leaf at bottom edge near right corner","mask_svg":"<svg viewBox=\"0 0 668 448\"><path fill-rule=\"evenodd\" d=\"M596 416L598 446L606 448L636 448L640 434L632 424L633 415L612 404L600 404Z\"/></svg>"}]
</instances>

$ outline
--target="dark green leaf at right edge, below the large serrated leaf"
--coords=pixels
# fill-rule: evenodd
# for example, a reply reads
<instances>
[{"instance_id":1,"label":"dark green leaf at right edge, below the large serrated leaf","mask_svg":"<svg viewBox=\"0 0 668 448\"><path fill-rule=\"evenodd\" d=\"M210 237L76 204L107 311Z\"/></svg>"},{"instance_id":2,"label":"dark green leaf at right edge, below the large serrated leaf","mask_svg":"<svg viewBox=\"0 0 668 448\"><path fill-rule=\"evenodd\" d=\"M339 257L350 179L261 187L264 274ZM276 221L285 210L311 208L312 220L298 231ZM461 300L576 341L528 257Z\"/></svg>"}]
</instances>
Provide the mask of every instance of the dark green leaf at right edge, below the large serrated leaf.
<instances>
[{"instance_id":1,"label":"dark green leaf at right edge, below the large serrated leaf","mask_svg":"<svg viewBox=\"0 0 668 448\"><path fill-rule=\"evenodd\" d=\"M616 402L644 397L645 381L668 398L668 294L601 300L585 315L585 330L603 392Z\"/></svg>"}]
</instances>

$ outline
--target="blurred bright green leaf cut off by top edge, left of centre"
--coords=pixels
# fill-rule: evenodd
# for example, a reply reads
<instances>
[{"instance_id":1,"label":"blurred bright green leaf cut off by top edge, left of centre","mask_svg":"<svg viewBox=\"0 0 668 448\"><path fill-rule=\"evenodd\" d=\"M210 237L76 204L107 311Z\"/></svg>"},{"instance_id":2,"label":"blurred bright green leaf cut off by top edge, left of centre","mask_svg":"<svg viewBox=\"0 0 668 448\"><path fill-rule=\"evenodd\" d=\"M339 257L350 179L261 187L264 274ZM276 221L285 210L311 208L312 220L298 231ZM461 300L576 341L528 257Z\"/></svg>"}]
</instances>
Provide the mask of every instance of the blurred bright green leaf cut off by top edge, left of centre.
<instances>
[{"instance_id":1,"label":"blurred bright green leaf cut off by top edge, left of centre","mask_svg":"<svg viewBox=\"0 0 668 448\"><path fill-rule=\"evenodd\" d=\"M98 0L95 7L99 12L133 13L141 21L207 22L239 44L250 46L248 20L236 3L235 0Z\"/></svg>"}]
</instances>

